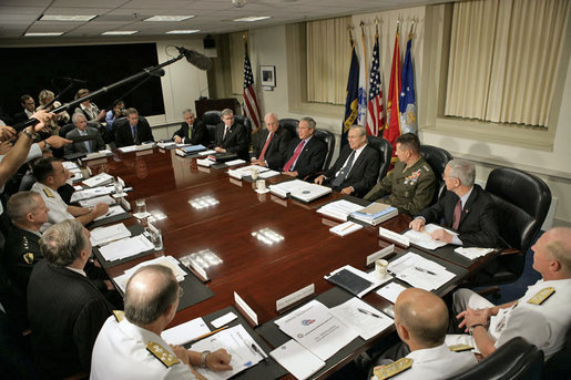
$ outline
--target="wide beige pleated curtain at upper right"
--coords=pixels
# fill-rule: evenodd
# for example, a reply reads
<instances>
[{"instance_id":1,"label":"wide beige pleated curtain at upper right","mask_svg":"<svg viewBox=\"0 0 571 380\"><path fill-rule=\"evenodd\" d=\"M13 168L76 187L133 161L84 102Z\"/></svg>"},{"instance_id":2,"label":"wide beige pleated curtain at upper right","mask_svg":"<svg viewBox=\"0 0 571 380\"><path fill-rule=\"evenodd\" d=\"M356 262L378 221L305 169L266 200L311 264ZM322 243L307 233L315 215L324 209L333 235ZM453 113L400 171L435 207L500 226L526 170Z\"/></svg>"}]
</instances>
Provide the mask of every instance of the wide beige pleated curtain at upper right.
<instances>
[{"instance_id":1,"label":"wide beige pleated curtain at upper right","mask_svg":"<svg viewBox=\"0 0 571 380\"><path fill-rule=\"evenodd\" d=\"M445 114L549 126L568 4L455 3Z\"/></svg>"}]
</instances>

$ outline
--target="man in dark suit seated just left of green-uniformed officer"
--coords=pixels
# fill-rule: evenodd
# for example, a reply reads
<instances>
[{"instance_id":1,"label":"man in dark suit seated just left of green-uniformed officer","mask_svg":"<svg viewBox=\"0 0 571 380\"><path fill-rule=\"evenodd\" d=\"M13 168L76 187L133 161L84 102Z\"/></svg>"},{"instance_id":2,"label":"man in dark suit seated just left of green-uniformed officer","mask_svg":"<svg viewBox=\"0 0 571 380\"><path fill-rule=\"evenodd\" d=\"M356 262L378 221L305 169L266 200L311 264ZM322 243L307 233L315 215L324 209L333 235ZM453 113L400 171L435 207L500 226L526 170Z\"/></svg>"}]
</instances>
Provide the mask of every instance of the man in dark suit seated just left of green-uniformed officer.
<instances>
[{"instance_id":1,"label":"man in dark suit seated just left of green-uniformed officer","mask_svg":"<svg viewBox=\"0 0 571 380\"><path fill-rule=\"evenodd\" d=\"M375 186L379 176L379 152L367 145L367 132L360 125L350 127L349 144L345 145L335 164L315 178L341 194L363 196Z\"/></svg>"}]
</instances>

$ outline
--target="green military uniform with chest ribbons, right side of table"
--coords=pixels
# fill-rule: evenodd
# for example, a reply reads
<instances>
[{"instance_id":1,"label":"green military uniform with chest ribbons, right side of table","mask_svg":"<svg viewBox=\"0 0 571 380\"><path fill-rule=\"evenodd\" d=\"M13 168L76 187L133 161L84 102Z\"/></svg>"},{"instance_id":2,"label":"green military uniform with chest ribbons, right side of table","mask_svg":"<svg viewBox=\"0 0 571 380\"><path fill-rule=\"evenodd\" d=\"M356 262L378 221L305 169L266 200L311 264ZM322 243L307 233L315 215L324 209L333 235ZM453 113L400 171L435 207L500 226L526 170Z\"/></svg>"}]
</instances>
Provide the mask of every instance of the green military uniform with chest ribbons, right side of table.
<instances>
[{"instance_id":1,"label":"green military uniform with chest ribbons, right side of table","mask_svg":"<svg viewBox=\"0 0 571 380\"><path fill-rule=\"evenodd\" d=\"M425 158L420 157L412 166L395 164L385 178L365 195L365 201L377 201L398 208L399 213L417 215L430 205L435 195L436 177ZM381 198L384 195L388 197Z\"/></svg>"}]
</instances>

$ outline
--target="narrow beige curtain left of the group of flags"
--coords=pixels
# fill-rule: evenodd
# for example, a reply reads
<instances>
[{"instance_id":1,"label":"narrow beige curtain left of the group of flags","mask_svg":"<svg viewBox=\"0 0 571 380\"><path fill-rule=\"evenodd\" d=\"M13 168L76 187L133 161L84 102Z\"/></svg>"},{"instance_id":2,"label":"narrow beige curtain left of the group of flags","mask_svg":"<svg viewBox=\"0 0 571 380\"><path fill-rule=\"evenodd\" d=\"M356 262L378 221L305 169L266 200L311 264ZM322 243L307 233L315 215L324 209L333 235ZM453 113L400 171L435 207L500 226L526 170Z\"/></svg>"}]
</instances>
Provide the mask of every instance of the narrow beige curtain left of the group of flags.
<instances>
[{"instance_id":1,"label":"narrow beige curtain left of the group of flags","mask_svg":"<svg viewBox=\"0 0 571 380\"><path fill-rule=\"evenodd\" d=\"M350 64L347 28L350 18L309 21L307 31L307 100L345 104Z\"/></svg>"}]
</instances>

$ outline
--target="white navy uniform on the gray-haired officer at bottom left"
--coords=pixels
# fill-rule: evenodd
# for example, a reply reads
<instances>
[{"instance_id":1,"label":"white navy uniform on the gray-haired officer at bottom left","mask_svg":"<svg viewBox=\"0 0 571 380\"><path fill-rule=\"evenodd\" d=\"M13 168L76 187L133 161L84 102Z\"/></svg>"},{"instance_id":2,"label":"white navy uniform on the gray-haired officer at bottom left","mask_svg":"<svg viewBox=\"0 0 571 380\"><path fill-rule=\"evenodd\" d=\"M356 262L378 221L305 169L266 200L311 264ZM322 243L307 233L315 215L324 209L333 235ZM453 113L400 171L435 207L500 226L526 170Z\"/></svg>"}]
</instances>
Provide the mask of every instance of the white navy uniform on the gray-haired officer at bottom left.
<instances>
[{"instance_id":1,"label":"white navy uniform on the gray-haired officer at bottom left","mask_svg":"<svg viewBox=\"0 0 571 380\"><path fill-rule=\"evenodd\" d=\"M160 336L114 316L108 318L98 335L91 357L92 380L196 379L180 360L170 367L147 350L149 342L176 359L169 343Z\"/></svg>"}]
</instances>

